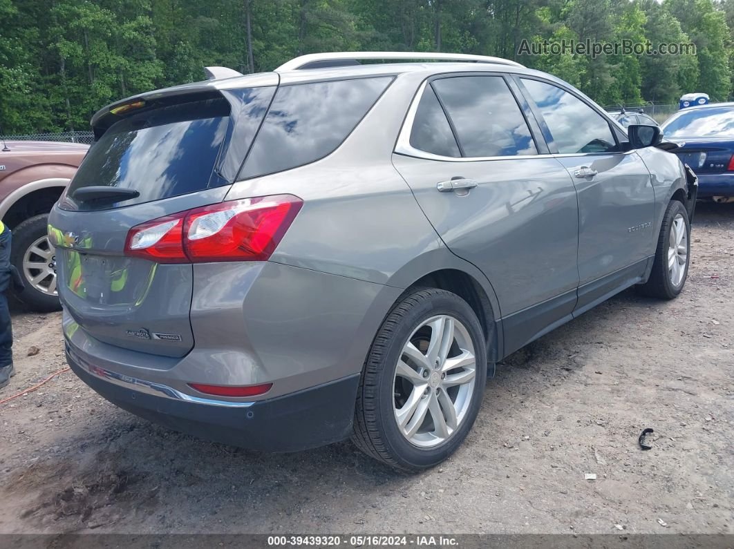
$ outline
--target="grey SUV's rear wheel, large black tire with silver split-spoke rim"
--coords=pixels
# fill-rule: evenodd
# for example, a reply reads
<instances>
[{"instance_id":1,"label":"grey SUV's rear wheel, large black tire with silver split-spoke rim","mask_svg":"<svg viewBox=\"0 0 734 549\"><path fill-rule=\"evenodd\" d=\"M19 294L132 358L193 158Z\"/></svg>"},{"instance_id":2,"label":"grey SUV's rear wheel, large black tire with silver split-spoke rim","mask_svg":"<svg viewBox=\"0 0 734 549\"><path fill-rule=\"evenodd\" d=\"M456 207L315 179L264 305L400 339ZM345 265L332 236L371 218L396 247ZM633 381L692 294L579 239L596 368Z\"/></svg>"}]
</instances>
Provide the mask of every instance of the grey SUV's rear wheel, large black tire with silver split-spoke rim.
<instances>
[{"instance_id":1,"label":"grey SUV's rear wheel, large black tire with silver split-spoke rim","mask_svg":"<svg viewBox=\"0 0 734 549\"><path fill-rule=\"evenodd\" d=\"M468 303L446 290L416 290L372 343L352 441L401 471L431 468L466 438L486 380L484 333Z\"/></svg>"}]
</instances>

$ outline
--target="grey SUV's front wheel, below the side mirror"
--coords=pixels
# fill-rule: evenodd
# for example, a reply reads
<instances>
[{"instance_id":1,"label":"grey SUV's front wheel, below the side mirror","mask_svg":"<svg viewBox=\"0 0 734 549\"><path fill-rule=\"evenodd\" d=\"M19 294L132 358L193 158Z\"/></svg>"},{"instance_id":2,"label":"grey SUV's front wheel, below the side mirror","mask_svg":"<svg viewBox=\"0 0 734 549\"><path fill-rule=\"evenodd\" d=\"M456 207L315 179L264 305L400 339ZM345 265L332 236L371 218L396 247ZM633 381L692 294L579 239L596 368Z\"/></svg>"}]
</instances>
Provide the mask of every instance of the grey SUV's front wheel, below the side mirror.
<instances>
[{"instance_id":1,"label":"grey SUV's front wheel, below the side mirror","mask_svg":"<svg viewBox=\"0 0 734 549\"><path fill-rule=\"evenodd\" d=\"M663 217L650 279L638 287L642 295L673 299L680 294L688 278L691 260L691 224L686 207L672 200Z\"/></svg>"}]
</instances>

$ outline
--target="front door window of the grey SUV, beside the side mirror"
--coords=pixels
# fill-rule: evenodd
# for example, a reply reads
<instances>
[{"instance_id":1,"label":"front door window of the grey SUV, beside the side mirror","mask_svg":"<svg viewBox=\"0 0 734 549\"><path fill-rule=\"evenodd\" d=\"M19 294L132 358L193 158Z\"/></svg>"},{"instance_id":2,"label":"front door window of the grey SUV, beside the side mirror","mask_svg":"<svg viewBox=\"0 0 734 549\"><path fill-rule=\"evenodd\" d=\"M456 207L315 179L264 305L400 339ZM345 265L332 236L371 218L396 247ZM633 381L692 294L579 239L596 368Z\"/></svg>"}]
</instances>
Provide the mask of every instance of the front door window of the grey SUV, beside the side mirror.
<instances>
[{"instance_id":1,"label":"front door window of the grey SUV, beside the side mirror","mask_svg":"<svg viewBox=\"0 0 734 549\"><path fill-rule=\"evenodd\" d=\"M523 78L523 84L545 118L558 152L618 150L606 119L584 101L553 84L527 78Z\"/></svg>"}]
</instances>

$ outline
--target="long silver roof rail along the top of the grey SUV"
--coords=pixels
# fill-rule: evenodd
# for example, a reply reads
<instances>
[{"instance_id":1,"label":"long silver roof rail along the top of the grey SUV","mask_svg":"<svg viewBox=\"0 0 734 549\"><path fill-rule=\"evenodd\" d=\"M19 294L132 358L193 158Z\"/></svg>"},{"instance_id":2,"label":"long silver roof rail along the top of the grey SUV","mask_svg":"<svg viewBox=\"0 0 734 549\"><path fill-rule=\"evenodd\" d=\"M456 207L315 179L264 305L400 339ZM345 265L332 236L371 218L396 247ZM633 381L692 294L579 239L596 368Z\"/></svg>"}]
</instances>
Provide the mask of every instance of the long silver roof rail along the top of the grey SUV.
<instances>
[{"instance_id":1,"label":"long silver roof rail along the top of the grey SUV","mask_svg":"<svg viewBox=\"0 0 734 549\"><path fill-rule=\"evenodd\" d=\"M359 59L384 59L387 61L458 61L474 63L497 63L498 65L512 65L522 67L520 63L502 59L501 57L490 57L485 55L470 54L443 54L425 51L335 51L324 54L308 54L296 57L277 67L276 72L285 70L316 69L323 67L344 67L348 65L359 65Z\"/></svg>"}]
</instances>

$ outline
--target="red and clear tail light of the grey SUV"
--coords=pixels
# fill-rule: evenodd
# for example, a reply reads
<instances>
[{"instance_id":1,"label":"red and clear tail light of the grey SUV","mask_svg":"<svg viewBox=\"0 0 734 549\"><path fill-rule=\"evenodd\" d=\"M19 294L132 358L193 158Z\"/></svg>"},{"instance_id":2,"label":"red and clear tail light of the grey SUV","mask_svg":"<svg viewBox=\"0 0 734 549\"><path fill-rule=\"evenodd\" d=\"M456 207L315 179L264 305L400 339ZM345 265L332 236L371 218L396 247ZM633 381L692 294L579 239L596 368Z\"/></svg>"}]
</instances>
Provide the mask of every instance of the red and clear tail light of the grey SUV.
<instances>
[{"instance_id":1,"label":"red and clear tail light of the grey SUV","mask_svg":"<svg viewBox=\"0 0 734 549\"><path fill-rule=\"evenodd\" d=\"M134 226L125 253L158 263L269 259L303 201L289 194L233 200Z\"/></svg>"}]
</instances>

